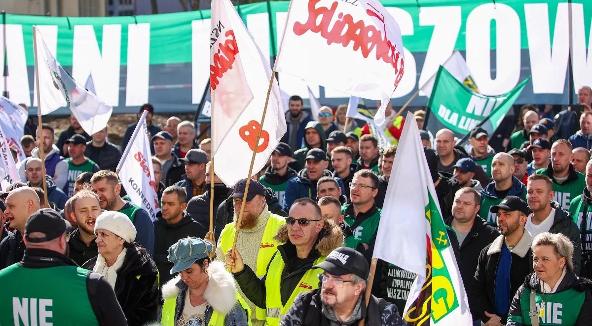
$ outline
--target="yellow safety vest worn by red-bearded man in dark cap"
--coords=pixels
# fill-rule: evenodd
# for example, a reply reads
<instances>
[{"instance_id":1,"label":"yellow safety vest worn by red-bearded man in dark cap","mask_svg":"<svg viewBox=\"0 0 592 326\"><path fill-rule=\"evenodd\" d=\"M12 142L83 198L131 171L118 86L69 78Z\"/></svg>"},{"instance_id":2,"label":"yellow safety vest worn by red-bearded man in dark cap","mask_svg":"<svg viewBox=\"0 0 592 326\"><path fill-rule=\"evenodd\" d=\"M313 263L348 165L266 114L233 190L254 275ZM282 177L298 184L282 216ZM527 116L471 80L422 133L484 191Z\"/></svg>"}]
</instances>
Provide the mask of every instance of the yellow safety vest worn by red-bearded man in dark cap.
<instances>
[{"instance_id":1,"label":"yellow safety vest worn by red-bearded man in dark cap","mask_svg":"<svg viewBox=\"0 0 592 326\"><path fill-rule=\"evenodd\" d=\"M274 236L278 232L279 227L285 225L285 223L285 218L276 214L269 214L269 219L265 226L265 230L263 231L263 237L261 238L259 252L257 253L255 274L259 279L265 276L269 261L271 261L271 258L274 257L274 254L278 251L278 245L281 245L281 242L275 241ZM232 248L235 232L236 224L228 223L224 226L224 229L220 234L220 250L222 251L222 254L225 255L230 248ZM259 320L265 320L265 309L255 308L255 317Z\"/></svg>"}]
</instances>

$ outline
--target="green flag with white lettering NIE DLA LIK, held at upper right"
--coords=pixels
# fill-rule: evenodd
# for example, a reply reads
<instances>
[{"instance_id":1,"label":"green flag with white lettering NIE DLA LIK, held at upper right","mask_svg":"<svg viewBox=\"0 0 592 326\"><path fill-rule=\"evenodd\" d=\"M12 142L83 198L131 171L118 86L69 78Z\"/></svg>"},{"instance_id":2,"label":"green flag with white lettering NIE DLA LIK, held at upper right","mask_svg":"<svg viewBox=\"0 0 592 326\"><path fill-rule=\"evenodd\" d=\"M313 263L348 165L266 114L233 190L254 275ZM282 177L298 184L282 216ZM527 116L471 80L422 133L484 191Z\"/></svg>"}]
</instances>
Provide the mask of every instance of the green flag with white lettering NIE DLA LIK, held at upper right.
<instances>
[{"instance_id":1,"label":"green flag with white lettering NIE DLA LIK, held at upper right","mask_svg":"<svg viewBox=\"0 0 592 326\"><path fill-rule=\"evenodd\" d=\"M438 130L448 128L457 138L462 138L483 122L482 127L491 137L529 80L530 76L506 94L485 96L471 91L440 66L427 103L429 118L426 130L436 135Z\"/></svg>"}]
</instances>

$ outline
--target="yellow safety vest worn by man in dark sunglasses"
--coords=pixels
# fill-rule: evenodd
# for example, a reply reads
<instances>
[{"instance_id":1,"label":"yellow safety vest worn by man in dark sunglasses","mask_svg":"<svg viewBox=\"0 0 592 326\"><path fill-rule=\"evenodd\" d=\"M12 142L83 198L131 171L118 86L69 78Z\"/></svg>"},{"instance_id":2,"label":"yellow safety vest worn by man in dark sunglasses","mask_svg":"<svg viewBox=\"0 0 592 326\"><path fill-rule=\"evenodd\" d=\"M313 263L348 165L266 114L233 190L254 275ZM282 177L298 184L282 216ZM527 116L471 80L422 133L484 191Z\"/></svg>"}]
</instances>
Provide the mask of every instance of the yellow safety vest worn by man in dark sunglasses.
<instances>
[{"instance_id":1,"label":"yellow safety vest worn by man in dark sunglasses","mask_svg":"<svg viewBox=\"0 0 592 326\"><path fill-rule=\"evenodd\" d=\"M313 266L322 263L325 260L325 256L318 257L314 261ZM284 318L284 315L288 312L289 308L294 303L296 296L303 292L318 289L318 274L323 273L321 269L310 269L304 273L300 279L298 286L292 291L292 295L288 299L285 305L282 305L281 295L281 282L282 282L282 270L284 270L285 263L282 255L274 255L274 259L269 264L269 271L265 279L265 325L268 326L279 326L279 322Z\"/></svg>"}]
</instances>

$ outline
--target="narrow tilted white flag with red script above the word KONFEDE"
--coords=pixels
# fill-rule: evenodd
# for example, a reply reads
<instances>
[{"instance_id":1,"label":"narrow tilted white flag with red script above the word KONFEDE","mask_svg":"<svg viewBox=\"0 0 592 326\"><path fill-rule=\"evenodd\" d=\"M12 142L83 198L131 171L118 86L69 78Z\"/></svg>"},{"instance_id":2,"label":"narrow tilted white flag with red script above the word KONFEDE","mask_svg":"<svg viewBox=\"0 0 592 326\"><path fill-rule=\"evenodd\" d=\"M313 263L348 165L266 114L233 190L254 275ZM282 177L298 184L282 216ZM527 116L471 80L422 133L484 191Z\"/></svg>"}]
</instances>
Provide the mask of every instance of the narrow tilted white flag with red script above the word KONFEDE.
<instances>
[{"instance_id":1,"label":"narrow tilted white flag with red script above the word KONFEDE","mask_svg":"<svg viewBox=\"0 0 592 326\"><path fill-rule=\"evenodd\" d=\"M131 203L142 207L150 215L150 218L156 221L156 213L160 209L156 194L158 185L154 178L146 125L147 112L142 113L136 129L131 135L130 142L121 156L121 161L117 165L117 171L119 171L119 179L123 188L130 196Z\"/></svg>"}]
</instances>

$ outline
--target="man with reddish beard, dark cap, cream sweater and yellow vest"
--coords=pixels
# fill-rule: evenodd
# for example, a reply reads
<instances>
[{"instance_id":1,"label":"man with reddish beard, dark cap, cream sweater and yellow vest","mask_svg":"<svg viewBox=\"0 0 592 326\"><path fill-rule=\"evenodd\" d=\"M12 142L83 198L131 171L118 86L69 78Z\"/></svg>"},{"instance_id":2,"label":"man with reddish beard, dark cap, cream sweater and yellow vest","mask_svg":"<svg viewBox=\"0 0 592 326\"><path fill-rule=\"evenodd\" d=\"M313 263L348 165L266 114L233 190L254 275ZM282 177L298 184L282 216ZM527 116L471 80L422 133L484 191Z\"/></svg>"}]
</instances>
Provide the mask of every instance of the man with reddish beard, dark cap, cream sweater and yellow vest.
<instances>
[{"instance_id":1,"label":"man with reddish beard, dark cap, cream sweater and yellow vest","mask_svg":"<svg viewBox=\"0 0 592 326\"><path fill-rule=\"evenodd\" d=\"M234 242L236 220L240 213L246 181L243 179L234 185L233 193L230 195L234 200L234 220L224 227L218 238L216 257L224 263L226 263L225 255ZM281 243L274 239L274 235L286 221L281 216L269 212L265 200L265 187L259 181L249 182L246 200L236 248L242 253L245 264L256 267L255 274L260 279L265 275L269 261L278 251L278 245ZM263 325L265 310L256 308L255 304L244 295L242 289L238 290L251 308L253 325Z\"/></svg>"}]
</instances>

